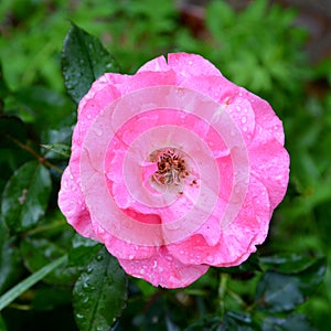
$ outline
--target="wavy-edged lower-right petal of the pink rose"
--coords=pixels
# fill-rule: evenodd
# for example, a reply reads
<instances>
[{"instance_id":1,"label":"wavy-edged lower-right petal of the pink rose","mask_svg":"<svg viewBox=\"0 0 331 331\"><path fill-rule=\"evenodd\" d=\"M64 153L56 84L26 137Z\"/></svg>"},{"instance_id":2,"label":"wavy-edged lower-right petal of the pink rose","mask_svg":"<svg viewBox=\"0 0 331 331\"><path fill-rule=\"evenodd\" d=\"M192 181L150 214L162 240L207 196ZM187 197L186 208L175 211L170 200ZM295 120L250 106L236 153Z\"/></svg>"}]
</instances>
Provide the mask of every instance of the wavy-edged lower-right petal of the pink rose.
<instances>
[{"instance_id":1,"label":"wavy-edged lower-right petal of the pink rose","mask_svg":"<svg viewBox=\"0 0 331 331\"><path fill-rule=\"evenodd\" d=\"M168 245L168 249L183 264L236 266L256 250L256 245L265 241L269 218L270 204L266 189L252 178L246 200L236 220L226 228L220 225L221 237L216 245L211 246L202 235L194 234L182 243Z\"/></svg>"}]
</instances>

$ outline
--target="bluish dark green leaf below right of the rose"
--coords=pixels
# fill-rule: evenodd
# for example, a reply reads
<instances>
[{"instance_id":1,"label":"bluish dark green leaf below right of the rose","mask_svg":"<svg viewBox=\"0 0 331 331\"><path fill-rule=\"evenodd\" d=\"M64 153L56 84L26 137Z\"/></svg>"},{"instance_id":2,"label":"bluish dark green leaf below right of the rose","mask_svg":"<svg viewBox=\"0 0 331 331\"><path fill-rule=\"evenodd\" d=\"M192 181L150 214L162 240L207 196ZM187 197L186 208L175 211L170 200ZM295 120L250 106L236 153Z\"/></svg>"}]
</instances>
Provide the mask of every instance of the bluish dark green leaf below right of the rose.
<instances>
[{"instance_id":1,"label":"bluish dark green leaf below right of the rose","mask_svg":"<svg viewBox=\"0 0 331 331\"><path fill-rule=\"evenodd\" d=\"M257 307L268 312L295 309L316 291L325 270L325 258L320 258L300 273L289 275L267 271L257 286Z\"/></svg>"}]
</instances>

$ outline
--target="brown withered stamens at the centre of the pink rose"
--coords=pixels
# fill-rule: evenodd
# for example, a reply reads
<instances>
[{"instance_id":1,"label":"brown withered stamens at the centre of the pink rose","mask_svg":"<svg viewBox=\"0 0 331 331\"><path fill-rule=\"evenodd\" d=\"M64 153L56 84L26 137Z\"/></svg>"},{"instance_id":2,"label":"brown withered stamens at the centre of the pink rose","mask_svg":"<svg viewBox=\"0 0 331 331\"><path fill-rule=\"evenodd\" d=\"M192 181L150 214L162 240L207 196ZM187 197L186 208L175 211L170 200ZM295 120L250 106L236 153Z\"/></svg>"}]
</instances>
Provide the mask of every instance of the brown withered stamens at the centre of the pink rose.
<instances>
[{"instance_id":1,"label":"brown withered stamens at the centre of the pink rose","mask_svg":"<svg viewBox=\"0 0 331 331\"><path fill-rule=\"evenodd\" d=\"M183 157L174 149L156 150L150 154L150 161L157 162L158 170L152 179L162 185L181 185L190 174Z\"/></svg>"}]
</instances>

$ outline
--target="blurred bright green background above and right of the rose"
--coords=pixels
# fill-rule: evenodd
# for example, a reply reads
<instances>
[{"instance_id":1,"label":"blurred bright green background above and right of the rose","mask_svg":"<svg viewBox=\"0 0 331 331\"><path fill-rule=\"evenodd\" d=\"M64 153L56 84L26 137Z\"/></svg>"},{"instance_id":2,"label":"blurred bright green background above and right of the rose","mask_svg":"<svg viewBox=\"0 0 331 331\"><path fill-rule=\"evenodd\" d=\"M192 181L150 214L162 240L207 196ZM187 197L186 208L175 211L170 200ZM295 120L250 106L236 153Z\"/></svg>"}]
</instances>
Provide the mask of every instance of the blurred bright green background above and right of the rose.
<instances>
[{"instance_id":1,"label":"blurred bright green background above and right of the rose","mask_svg":"<svg viewBox=\"0 0 331 331\"><path fill-rule=\"evenodd\" d=\"M168 52L199 53L231 81L266 98L284 121L290 184L260 254L324 255L330 261L331 47L318 42L320 31L330 34L331 11L323 8L328 1L302 1L307 7L289 2L1 0L6 83L0 86L0 113L28 124L32 145L45 142L51 135L45 128L63 119L73 122L75 106L61 75L61 49L71 21L99 38L122 73L135 73ZM70 134L63 137L70 141ZM25 159L1 152L1 191ZM330 289L329 267L319 291L300 307L319 330L331 330Z\"/></svg>"}]
</instances>

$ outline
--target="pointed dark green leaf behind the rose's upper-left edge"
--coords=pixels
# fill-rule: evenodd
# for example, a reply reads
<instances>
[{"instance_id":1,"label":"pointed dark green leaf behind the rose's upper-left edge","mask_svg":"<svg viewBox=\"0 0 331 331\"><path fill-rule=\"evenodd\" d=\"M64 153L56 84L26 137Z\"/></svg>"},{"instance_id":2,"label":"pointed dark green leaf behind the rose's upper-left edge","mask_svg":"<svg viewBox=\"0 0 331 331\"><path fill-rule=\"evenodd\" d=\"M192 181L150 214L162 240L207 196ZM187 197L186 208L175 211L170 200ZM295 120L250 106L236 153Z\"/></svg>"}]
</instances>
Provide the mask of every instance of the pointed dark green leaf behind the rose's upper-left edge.
<instances>
[{"instance_id":1,"label":"pointed dark green leaf behind the rose's upper-left edge","mask_svg":"<svg viewBox=\"0 0 331 331\"><path fill-rule=\"evenodd\" d=\"M62 50L62 74L68 95L78 104L105 72L118 72L114 57L98 39L72 23Z\"/></svg>"}]
</instances>

